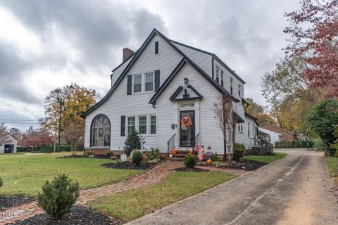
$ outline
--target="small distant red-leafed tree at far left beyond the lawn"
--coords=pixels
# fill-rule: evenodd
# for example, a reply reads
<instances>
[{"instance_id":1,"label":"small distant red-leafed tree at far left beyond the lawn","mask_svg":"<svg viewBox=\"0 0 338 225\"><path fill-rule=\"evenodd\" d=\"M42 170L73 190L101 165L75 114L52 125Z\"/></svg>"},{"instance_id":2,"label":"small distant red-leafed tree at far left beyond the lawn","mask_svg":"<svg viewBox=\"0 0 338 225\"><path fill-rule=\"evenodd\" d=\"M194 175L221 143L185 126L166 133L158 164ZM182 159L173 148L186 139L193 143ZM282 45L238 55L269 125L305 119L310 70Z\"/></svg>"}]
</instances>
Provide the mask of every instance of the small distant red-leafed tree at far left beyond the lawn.
<instances>
[{"instance_id":1,"label":"small distant red-leafed tree at far left beyond the lawn","mask_svg":"<svg viewBox=\"0 0 338 225\"><path fill-rule=\"evenodd\" d=\"M32 146L35 150L38 150L41 146L50 146L51 143L52 136L45 129L30 127L22 136L22 145Z\"/></svg>"}]
</instances>

